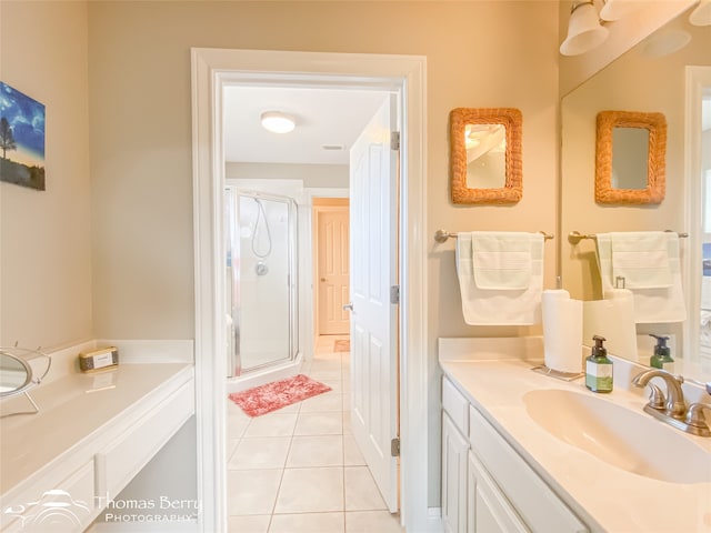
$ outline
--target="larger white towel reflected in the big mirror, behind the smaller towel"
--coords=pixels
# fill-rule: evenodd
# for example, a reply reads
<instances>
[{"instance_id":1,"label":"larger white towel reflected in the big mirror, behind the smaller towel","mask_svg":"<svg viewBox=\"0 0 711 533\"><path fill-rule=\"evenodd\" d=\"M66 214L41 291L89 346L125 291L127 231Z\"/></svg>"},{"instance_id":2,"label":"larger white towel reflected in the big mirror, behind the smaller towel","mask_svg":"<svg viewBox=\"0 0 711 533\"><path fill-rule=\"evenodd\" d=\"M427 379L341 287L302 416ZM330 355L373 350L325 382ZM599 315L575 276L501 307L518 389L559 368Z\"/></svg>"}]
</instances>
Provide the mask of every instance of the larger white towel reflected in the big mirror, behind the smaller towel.
<instances>
[{"instance_id":1,"label":"larger white towel reflected in the big mirror, behind the smaller towel","mask_svg":"<svg viewBox=\"0 0 711 533\"><path fill-rule=\"evenodd\" d=\"M631 233L644 237L645 232ZM623 275L625 282L624 286L630 289L634 294L634 322L638 324L683 322L687 320L687 308L684 305L684 294L681 288L679 235L673 232L649 233L653 233L653 235L644 242L652 242L658 238L661 239L659 233L661 233L665 239L670 284L667 286L639 286L640 283L650 283L649 281L642 281L645 276L643 272L640 272L640 270L643 269L635 269L633 266L628 271L622 271L627 274ZM614 233L615 238L618 238L618 233ZM619 238L617 240L618 242L621 242ZM614 252L612 250L612 233L598 233L595 239L600 280L602 282L602 290L605 293L615 288L615 273L617 275L621 275L619 273L620 270L618 269L615 271L613 266ZM624 252L627 250L623 249L622 251ZM660 271L648 276L648 279L655 280L652 284L659 283L660 278ZM633 280L632 283L630 283L630 279ZM634 284L638 284L638 286L634 286Z\"/></svg>"}]
</instances>

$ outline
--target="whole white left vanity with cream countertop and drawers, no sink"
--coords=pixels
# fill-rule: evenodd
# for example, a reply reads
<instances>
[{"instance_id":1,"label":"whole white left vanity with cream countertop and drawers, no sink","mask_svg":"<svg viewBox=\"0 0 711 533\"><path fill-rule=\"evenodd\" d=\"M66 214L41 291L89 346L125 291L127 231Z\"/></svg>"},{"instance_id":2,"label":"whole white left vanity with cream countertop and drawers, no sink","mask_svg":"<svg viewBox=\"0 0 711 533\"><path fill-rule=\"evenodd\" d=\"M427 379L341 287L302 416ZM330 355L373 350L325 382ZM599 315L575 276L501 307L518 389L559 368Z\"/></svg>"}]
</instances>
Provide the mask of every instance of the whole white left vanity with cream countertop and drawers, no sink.
<instances>
[{"instance_id":1,"label":"whole white left vanity with cream countertop and drawers, no sink","mask_svg":"<svg viewBox=\"0 0 711 533\"><path fill-rule=\"evenodd\" d=\"M21 395L0 403L0 531L83 531L194 413L193 365L122 363L31 395L37 414L13 414Z\"/></svg>"}]
</instances>

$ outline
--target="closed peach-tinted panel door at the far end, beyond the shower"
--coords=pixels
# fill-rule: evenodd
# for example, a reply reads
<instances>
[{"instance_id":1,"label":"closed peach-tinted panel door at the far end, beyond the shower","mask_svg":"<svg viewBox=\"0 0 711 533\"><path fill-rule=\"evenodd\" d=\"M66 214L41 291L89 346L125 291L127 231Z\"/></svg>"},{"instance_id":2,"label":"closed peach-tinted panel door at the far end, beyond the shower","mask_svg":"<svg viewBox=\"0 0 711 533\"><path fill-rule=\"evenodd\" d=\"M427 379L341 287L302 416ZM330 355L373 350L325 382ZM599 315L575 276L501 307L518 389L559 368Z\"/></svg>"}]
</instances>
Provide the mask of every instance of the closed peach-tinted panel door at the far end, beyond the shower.
<instances>
[{"instance_id":1,"label":"closed peach-tinted panel door at the far end, beyond the shower","mask_svg":"<svg viewBox=\"0 0 711 533\"><path fill-rule=\"evenodd\" d=\"M323 208L317 212L319 334L341 335L350 332L348 208Z\"/></svg>"}]
</instances>

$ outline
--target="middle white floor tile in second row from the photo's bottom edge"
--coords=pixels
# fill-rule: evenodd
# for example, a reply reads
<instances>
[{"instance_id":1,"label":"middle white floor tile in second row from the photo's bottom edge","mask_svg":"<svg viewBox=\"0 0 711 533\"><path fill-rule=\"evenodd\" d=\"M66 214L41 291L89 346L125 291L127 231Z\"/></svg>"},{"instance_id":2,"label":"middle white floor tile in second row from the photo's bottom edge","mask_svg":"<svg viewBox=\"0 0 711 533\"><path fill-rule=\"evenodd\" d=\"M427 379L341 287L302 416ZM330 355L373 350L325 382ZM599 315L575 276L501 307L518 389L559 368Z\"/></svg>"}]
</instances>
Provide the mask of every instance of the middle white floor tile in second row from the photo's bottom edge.
<instances>
[{"instance_id":1,"label":"middle white floor tile in second row from the photo's bottom edge","mask_svg":"<svg viewBox=\"0 0 711 533\"><path fill-rule=\"evenodd\" d=\"M343 511L343 469L287 469L274 513Z\"/></svg>"}]
</instances>

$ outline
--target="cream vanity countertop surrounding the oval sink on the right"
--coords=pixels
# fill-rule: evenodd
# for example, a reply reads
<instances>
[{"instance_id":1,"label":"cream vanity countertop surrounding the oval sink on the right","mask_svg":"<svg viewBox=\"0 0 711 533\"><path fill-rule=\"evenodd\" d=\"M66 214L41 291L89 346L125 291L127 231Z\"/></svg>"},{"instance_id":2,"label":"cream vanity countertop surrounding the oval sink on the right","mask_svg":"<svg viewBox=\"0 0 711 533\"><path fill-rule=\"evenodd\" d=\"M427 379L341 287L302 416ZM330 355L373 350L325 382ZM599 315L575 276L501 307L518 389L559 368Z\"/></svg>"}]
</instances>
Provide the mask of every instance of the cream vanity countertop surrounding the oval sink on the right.
<instances>
[{"instance_id":1,"label":"cream vanity countertop surrounding the oval sink on the right","mask_svg":"<svg viewBox=\"0 0 711 533\"><path fill-rule=\"evenodd\" d=\"M505 348L500 350L492 340L482 340L487 353L472 350L469 356L467 349L461 344L455 348L452 341L475 340L440 340L439 360L444 374L593 531L711 532L711 483L670 483L612 466L551 435L527 413L524 395L529 391L560 389L594 394L583 379L565 382L532 372L541 361L534 360L535 350L528 341L504 342ZM598 396L643 414L645 394L617 383L618 373L629 382L631 372L634 369L615 362L614 391ZM711 439L679 434L709 453L711 470ZM649 445L654 446L654 442ZM674 452L660 449L659 453Z\"/></svg>"}]
</instances>

